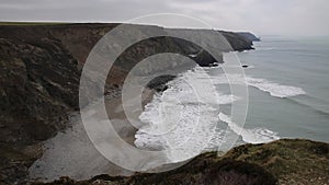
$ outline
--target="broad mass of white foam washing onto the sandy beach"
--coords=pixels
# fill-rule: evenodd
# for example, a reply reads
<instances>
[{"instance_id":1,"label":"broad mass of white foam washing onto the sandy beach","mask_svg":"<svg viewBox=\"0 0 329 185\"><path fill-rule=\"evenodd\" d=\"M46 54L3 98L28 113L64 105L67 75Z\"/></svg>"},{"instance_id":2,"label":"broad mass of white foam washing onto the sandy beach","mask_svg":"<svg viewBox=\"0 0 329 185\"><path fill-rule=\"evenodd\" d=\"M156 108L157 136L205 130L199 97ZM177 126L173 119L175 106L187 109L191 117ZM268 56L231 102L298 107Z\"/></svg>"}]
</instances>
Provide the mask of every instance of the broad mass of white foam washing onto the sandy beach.
<instances>
[{"instance_id":1,"label":"broad mass of white foam washing onto the sandy beach","mask_svg":"<svg viewBox=\"0 0 329 185\"><path fill-rule=\"evenodd\" d=\"M145 126L136 132L135 144L170 149L167 154L173 162L217 146L222 140L216 128L218 104L230 104L238 97L218 93L211 81L204 70L196 68L169 82L169 88L155 94L139 116Z\"/></svg>"}]
</instances>

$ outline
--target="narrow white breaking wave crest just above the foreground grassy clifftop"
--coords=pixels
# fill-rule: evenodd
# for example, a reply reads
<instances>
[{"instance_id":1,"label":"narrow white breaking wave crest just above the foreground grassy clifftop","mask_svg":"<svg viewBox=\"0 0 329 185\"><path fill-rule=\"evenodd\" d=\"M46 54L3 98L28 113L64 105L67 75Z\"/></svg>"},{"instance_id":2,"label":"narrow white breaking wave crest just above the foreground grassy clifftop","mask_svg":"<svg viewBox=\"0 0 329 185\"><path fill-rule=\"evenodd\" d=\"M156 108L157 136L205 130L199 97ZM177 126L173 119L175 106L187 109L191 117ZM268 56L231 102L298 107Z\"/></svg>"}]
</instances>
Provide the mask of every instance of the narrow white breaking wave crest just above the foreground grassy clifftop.
<instances>
[{"instance_id":1,"label":"narrow white breaking wave crest just above the foreground grassy clifftop","mask_svg":"<svg viewBox=\"0 0 329 185\"><path fill-rule=\"evenodd\" d=\"M240 135L242 140L249 143L264 143L280 139L276 132L266 128L242 128L238 124L231 122L231 118L223 113L219 113L219 119L225 122L232 131Z\"/></svg>"}]
</instances>

